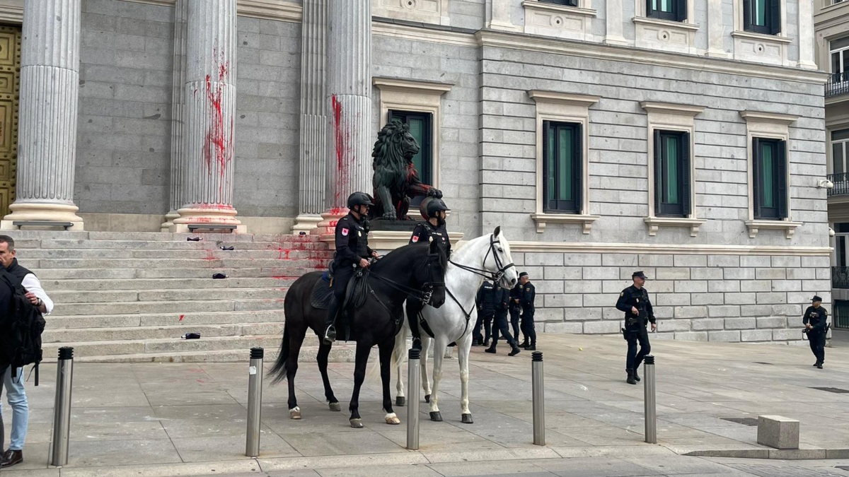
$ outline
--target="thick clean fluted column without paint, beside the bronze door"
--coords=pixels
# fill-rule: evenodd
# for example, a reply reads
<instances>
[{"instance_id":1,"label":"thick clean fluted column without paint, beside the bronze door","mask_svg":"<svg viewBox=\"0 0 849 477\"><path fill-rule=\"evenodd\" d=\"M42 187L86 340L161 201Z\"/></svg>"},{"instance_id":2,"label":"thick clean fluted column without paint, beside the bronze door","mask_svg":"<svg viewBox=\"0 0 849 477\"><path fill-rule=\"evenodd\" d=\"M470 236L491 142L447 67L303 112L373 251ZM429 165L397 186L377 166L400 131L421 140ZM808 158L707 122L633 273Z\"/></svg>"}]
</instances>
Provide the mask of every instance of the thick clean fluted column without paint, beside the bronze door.
<instances>
[{"instance_id":1,"label":"thick clean fluted column without paint, beside the bronze door","mask_svg":"<svg viewBox=\"0 0 849 477\"><path fill-rule=\"evenodd\" d=\"M74 205L80 7L80 0L24 3L16 199L0 223L5 230L13 221L83 229Z\"/></svg>"}]
</instances>

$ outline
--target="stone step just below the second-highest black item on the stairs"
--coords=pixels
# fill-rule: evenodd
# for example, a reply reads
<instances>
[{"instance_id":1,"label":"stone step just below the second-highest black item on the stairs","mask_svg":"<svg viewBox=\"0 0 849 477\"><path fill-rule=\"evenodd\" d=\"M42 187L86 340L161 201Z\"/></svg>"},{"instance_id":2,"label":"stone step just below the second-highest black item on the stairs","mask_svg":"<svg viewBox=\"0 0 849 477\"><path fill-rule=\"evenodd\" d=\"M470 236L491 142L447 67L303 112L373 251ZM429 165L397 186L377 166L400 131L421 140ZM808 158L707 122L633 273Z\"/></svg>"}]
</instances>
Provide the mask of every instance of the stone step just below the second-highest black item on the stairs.
<instances>
[{"instance_id":1,"label":"stone step just below the second-highest black item on the stairs","mask_svg":"<svg viewBox=\"0 0 849 477\"><path fill-rule=\"evenodd\" d=\"M275 249L251 250L128 250L128 249L41 249L21 250L20 261L45 261L48 259L189 259L189 260L221 260L221 259L327 259L332 258L327 250L292 250L283 247Z\"/></svg>"}]
</instances>

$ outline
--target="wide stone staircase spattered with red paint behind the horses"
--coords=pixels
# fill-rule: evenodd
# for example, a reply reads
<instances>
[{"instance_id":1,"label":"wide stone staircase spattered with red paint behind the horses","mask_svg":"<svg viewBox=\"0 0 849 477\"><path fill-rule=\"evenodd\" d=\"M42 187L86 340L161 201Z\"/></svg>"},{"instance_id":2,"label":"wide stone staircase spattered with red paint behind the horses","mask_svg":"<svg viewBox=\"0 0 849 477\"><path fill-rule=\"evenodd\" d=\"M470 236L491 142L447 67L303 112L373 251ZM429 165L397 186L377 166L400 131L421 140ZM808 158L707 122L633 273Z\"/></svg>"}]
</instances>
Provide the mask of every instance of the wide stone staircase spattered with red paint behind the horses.
<instances>
[{"instance_id":1,"label":"wide stone staircase spattered with red paint behind the horses","mask_svg":"<svg viewBox=\"0 0 849 477\"><path fill-rule=\"evenodd\" d=\"M243 362L253 346L275 359L286 290L327 267L309 235L15 231L20 264L53 299L44 356L73 346L78 362ZM200 242L188 237L202 237ZM233 246L234 250L221 250ZM214 273L228 278L213 279ZM200 340L182 340L200 333ZM307 333L301 360L314 360ZM331 361L352 361L337 344Z\"/></svg>"}]
</instances>

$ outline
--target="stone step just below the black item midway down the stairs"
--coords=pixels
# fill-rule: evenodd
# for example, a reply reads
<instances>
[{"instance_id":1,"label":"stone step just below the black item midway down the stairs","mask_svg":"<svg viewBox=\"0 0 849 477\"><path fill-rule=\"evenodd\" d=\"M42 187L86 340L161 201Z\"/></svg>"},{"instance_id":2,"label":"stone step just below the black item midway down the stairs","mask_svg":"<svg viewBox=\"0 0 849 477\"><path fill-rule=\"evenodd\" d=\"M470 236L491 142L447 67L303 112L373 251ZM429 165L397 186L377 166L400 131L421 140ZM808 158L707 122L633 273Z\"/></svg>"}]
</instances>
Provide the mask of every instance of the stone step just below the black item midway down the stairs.
<instances>
[{"instance_id":1,"label":"stone step just below the black item midway down the stairs","mask_svg":"<svg viewBox=\"0 0 849 477\"><path fill-rule=\"evenodd\" d=\"M205 271L206 272L206 271ZM227 278L213 280L207 278L121 278L93 280L44 280L42 286L48 290L148 290L148 289L264 289L288 288L294 278Z\"/></svg>"}]
</instances>

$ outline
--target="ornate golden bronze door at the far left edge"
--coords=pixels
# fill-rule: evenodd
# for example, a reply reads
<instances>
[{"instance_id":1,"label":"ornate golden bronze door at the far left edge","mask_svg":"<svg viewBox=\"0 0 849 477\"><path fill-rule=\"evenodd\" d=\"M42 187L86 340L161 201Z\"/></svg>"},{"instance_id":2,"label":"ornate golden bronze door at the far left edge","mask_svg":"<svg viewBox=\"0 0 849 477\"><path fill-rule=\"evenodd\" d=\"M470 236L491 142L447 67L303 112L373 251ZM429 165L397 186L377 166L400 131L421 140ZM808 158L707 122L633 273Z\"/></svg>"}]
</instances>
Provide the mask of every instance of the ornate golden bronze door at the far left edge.
<instances>
[{"instance_id":1,"label":"ornate golden bronze door at the far left edge","mask_svg":"<svg viewBox=\"0 0 849 477\"><path fill-rule=\"evenodd\" d=\"M0 25L0 216L14 202L19 93L20 28Z\"/></svg>"}]
</instances>

